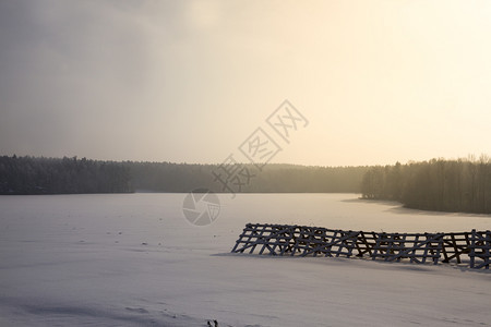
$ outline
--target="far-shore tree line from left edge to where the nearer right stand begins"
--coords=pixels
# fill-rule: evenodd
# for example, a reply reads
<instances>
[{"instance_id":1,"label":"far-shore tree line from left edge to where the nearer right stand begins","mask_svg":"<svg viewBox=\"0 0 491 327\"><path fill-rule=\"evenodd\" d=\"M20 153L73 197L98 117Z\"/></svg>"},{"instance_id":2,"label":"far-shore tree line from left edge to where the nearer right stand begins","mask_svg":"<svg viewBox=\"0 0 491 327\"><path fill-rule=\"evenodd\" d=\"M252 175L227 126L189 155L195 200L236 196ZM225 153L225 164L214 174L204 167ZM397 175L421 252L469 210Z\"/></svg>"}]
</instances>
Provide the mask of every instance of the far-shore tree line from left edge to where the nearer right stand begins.
<instances>
[{"instance_id":1,"label":"far-shore tree line from left edge to where the nearer right stand begins","mask_svg":"<svg viewBox=\"0 0 491 327\"><path fill-rule=\"evenodd\" d=\"M216 193L360 193L368 167L306 167L271 164L261 169L240 165L249 171L239 185L220 183L220 165L172 162L101 161L86 158L0 156L0 194L71 194L176 192L207 189Z\"/></svg>"}]
</instances>

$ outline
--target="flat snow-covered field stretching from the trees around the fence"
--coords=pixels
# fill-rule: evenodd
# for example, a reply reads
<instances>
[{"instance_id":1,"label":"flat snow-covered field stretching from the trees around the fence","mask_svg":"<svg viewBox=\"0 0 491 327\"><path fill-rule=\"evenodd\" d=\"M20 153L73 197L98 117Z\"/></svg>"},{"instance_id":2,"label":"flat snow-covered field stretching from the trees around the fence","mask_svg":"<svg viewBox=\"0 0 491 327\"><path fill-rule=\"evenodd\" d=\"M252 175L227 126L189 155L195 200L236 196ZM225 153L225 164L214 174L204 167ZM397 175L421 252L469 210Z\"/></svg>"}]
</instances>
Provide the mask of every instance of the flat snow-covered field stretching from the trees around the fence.
<instances>
[{"instance_id":1,"label":"flat snow-covered field stretching from the trees around the fence","mask_svg":"<svg viewBox=\"0 0 491 327\"><path fill-rule=\"evenodd\" d=\"M0 326L489 326L491 275L446 265L229 254L247 222L375 231L491 229L491 217L350 194L0 196Z\"/></svg>"}]
</instances>

